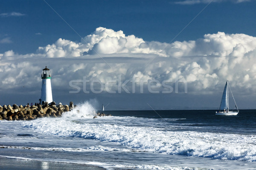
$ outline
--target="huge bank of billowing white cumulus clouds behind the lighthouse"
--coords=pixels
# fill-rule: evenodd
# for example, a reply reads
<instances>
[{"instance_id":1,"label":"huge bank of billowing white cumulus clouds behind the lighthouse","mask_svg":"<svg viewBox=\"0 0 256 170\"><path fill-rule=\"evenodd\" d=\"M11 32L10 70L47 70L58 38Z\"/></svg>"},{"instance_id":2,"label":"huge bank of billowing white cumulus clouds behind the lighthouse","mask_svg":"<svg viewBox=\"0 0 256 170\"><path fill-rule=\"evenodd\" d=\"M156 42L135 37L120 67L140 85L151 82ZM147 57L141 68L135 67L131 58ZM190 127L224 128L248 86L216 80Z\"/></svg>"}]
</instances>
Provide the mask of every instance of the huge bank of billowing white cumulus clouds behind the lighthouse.
<instances>
[{"instance_id":1,"label":"huge bank of billowing white cumulus clouds behind the lighthouse","mask_svg":"<svg viewBox=\"0 0 256 170\"><path fill-rule=\"evenodd\" d=\"M229 80L241 93L251 94L256 91L255 56L256 37L250 35L218 32L168 44L99 27L81 42L59 38L52 45L39 47L35 54L18 55L13 50L0 54L0 86L6 90L26 84L40 90L38 75L47 65L53 75L52 86L66 91L72 90L69 82L74 80L79 80L77 86L83 89L81 81L86 78L107 86L103 92L118 92L119 82L127 82L129 92L135 86L135 93L140 93L141 89L147 92L152 81L156 86L179 81L187 83L190 93L207 94L222 90ZM93 85L100 89L99 84ZM159 90L166 91L166 86Z\"/></svg>"}]
</instances>

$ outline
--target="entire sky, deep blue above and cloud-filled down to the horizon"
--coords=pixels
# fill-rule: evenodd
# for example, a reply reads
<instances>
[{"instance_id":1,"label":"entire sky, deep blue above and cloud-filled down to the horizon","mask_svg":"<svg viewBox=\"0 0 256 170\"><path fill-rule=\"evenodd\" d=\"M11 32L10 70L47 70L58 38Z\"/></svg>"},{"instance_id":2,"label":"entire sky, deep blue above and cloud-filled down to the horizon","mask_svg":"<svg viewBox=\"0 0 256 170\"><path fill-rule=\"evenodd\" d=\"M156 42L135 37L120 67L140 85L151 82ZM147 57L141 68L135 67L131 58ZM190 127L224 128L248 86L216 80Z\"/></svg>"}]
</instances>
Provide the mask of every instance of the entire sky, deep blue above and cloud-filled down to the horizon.
<instances>
[{"instance_id":1,"label":"entire sky, deep blue above and cloud-filled down to the horizon","mask_svg":"<svg viewBox=\"0 0 256 170\"><path fill-rule=\"evenodd\" d=\"M256 0L0 0L0 105L256 109ZM234 105L234 104L233 104ZM233 107L230 101L230 107Z\"/></svg>"}]
</instances>

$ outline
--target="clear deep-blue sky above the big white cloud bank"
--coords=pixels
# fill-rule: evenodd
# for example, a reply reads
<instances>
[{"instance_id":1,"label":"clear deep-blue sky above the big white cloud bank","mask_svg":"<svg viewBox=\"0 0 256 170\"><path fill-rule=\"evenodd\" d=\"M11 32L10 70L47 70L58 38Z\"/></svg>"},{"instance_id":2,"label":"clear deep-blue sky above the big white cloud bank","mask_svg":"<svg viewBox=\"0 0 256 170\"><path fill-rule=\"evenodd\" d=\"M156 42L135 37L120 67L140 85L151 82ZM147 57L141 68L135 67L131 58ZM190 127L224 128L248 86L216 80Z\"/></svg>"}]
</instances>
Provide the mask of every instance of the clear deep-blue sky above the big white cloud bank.
<instances>
[{"instance_id":1,"label":"clear deep-blue sky above the big white cloud bank","mask_svg":"<svg viewBox=\"0 0 256 170\"><path fill-rule=\"evenodd\" d=\"M176 4L175 0L46 0L76 32L84 37L99 26L145 41L169 43L207 3ZM0 17L0 52L13 49L19 54L35 52L38 46L58 38L80 41L70 27L44 0L1 0L1 13L18 12L21 16ZM195 40L204 34L225 32L256 36L256 1L212 2L175 40ZM36 35L40 33L40 35Z\"/></svg>"}]
</instances>

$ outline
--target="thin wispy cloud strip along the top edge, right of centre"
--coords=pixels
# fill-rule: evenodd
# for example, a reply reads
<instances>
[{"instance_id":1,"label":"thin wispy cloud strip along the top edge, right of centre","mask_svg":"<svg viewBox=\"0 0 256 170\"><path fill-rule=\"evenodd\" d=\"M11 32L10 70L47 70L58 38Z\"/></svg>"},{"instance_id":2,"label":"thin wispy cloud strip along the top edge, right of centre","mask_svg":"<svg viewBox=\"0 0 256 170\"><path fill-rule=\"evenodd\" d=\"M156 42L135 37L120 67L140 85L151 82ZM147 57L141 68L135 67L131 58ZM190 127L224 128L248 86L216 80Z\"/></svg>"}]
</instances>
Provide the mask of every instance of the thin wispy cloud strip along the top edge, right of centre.
<instances>
[{"instance_id":1,"label":"thin wispy cloud strip along the top edge, right of centre","mask_svg":"<svg viewBox=\"0 0 256 170\"><path fill-rule=\"evenodd\" d=\"M177 1L175 3L181 4L181 5L193 5L193 4L198 4L198 3L221 3L221 2L227 2L230 1L232 3L243 3L243 2L249 2L250 0L182 0L182 1Z\"/></svg>"}]
</instances>

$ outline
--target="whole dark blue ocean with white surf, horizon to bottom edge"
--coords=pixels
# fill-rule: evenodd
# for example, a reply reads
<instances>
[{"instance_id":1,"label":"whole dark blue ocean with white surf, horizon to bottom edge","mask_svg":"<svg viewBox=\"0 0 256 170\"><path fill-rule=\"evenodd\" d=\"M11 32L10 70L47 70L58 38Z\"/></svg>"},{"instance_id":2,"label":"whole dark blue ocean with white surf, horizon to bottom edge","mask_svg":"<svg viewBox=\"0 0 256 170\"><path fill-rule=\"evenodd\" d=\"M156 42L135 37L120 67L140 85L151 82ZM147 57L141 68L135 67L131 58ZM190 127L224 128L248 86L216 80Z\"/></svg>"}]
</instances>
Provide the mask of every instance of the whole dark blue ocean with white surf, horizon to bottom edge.
<instances>
[{"instance_id":1,"label":"whole dark blue ocean with white surf, horizon to bottom edge","mask_svg":"<svg viewBox=\"0 0 256 170\"><path fill-rule=\"evenodd\" d=\"M104 113L93 119L85 102L61 118L0 121L0 169L256 169L256 110Z\"/></svg>"}]
</instances>

